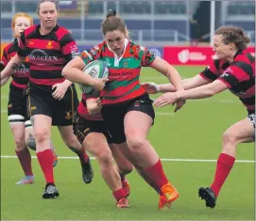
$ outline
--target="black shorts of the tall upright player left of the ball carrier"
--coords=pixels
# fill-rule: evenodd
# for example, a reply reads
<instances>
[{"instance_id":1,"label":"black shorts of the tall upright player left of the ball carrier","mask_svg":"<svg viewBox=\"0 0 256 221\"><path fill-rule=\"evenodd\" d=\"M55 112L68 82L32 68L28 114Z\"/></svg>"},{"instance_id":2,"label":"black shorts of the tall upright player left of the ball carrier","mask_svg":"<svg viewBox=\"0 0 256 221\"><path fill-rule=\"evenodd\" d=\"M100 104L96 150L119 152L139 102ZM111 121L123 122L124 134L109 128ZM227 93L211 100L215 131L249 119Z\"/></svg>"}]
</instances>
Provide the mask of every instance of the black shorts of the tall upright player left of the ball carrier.
<instances>
[{"instance_id":1,"label":"black shorts of the tall upright player left of the ball carrier","mask_svg":"<svg viewBox=\"0 0 256 221\"><path fill-rule=\"evenodd\" d=\"M73 125L74 113L77 111L78 98L75 85L69 87L64 97L59 101L52 97L52 90L45 87L34 87L29 84L27 89L28 116L45 115L52 118L53 126Z\"/></svg>"}]
</instances>

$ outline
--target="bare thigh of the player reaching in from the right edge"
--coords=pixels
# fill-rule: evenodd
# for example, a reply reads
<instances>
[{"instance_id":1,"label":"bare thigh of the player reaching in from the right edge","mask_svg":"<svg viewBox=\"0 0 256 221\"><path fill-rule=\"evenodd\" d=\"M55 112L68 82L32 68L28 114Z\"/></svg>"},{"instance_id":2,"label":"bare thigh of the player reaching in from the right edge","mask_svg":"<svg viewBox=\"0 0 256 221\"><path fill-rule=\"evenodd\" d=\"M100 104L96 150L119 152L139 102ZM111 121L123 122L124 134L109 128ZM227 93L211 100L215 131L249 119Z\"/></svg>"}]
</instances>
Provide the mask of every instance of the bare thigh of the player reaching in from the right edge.
<instances>
[{"instance_id":1,"label":"bare thigh of the player reaching in from the right edge","mask_svg":"<svg viewBox=\"0 0 256 221\"><path fill-rule=\"evenodd\" d=\"M255 115L254 124L250 118L242 119L232 126L224 133L225 138L233 139L236 143L252 142L255 135Z\"/></svg>"}]
</instances>

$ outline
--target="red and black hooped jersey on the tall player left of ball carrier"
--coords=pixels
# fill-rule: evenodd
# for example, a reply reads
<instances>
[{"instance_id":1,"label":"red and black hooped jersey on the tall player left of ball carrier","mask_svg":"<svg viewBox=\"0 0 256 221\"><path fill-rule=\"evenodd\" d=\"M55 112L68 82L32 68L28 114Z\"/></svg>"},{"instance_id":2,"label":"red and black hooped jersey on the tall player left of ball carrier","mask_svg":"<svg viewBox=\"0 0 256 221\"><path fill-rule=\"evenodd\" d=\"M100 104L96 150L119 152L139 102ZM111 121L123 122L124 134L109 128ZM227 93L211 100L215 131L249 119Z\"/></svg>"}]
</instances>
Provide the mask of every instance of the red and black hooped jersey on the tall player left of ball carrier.
<instances>
[{"instance_id":1,"label":"red and black hooped jersey on the tall player left of ball carrier","mask_svg":"<svg viewBox=\"0 0 256 221\"><path fill-rule=\"evenodd\" d=\"M75 39L65 28L56 25L47 35L41 35L40 25L27 28L19 40L18 55L27 56L30 63L30 83L53 86L63 82L63 67L78 55Z\"/></svg>"}]
</instances>

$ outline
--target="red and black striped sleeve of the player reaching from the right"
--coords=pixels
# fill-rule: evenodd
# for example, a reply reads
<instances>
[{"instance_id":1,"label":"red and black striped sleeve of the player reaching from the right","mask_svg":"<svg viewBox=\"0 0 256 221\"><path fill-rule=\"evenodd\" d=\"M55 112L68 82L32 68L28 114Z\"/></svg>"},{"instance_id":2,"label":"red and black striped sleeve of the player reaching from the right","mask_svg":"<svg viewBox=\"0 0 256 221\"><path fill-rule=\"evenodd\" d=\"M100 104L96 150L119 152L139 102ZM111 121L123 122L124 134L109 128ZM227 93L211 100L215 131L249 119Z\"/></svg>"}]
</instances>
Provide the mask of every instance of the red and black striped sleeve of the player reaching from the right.
<instances>
[{"instance_id":1,"label":"red and black striped sleeve of the player reaching from the right","mask_svg":"<svg viewBox=\"0 0 256 221\"><path fill-rule=\"evenodd\" d=\"M249 80L253 75L250 65L245 62L233 62L220 76L219 80L224 82L228 87L234 87L237 84Z\"/></svg>"}]
</instances>

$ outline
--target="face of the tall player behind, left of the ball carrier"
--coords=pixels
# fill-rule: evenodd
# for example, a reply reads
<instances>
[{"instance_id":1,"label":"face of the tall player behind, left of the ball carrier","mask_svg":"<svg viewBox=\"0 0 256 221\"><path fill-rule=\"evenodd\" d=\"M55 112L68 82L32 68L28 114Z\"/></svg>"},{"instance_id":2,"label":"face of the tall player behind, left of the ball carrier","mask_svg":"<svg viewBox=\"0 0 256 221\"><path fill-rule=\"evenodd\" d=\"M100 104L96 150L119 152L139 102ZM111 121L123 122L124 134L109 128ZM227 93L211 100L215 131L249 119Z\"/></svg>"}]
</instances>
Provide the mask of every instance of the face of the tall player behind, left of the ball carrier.
<instances>
[{"instance_id":1,"label":"face of the tall player behind, left of the ball carrier","mask_svg":"<svg viewBox=\"0 0 256 221\"><path fill-rule=\"evenodd\" d=\"M49 30L57 24L58 11L56 5L52 2L43 2L39 9L39 18L41 25Z\"/></svg>"}]
</instances>

